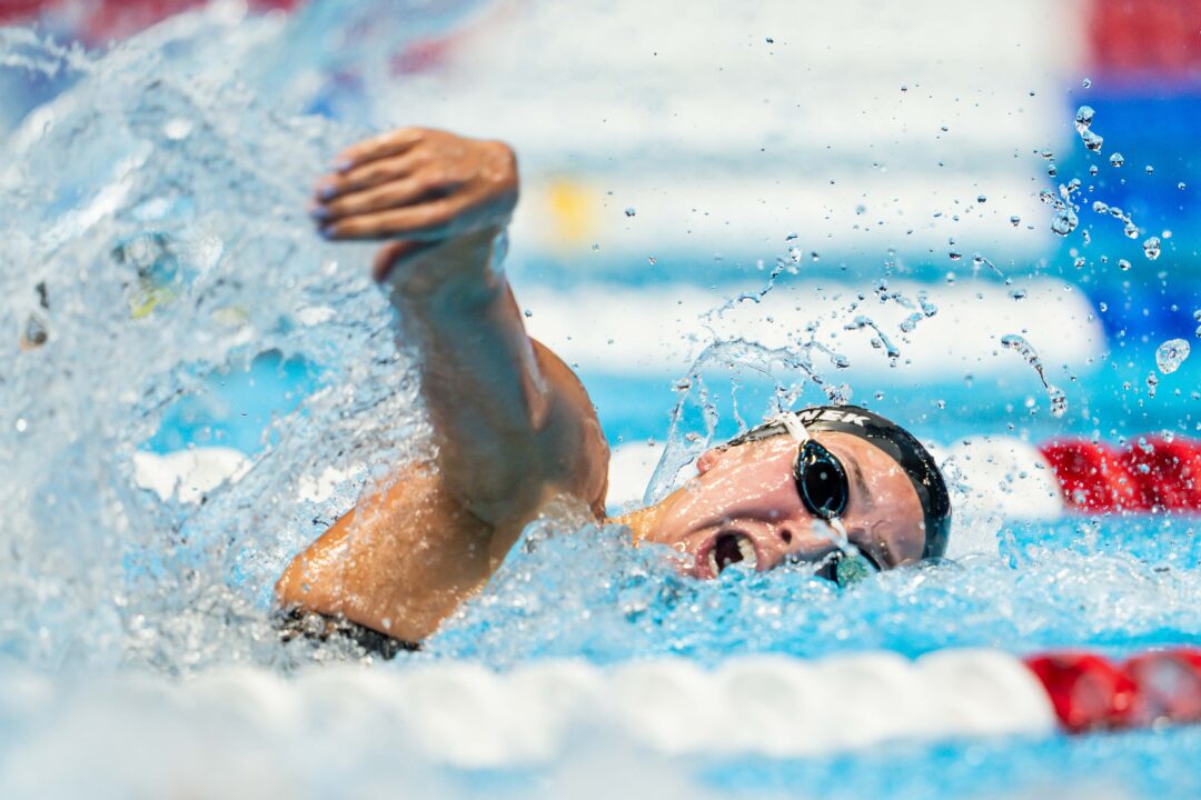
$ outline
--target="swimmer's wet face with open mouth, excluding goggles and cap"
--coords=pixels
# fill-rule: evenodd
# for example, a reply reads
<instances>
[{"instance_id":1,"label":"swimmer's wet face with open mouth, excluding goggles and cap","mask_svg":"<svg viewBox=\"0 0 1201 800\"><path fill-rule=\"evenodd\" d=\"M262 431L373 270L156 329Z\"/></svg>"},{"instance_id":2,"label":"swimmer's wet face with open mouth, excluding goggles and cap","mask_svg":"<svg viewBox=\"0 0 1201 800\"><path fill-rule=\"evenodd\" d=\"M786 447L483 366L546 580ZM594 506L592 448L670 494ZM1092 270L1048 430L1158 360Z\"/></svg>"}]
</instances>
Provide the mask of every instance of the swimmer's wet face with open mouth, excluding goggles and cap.
<instances>
[{"instance_id":1,"label":"swimmer's wet face with open mouth, excluding goggles and cap","mask_svg":"<svg viewBox=\"0 0 1201 800\"><path fill-rule=\"evenodd\" d=\"M918 492L883 450L847 433L813 437L842 462L850 498L847 537L882 569L918 561L925 547ZM710 450L698 475L662 504L646 540L692 557L688 571L713 578L731 563L760 572L785 560L820 561L837 549L830 524L805 507L793 477L789 435Z\"/></svg>"}]
</instances>

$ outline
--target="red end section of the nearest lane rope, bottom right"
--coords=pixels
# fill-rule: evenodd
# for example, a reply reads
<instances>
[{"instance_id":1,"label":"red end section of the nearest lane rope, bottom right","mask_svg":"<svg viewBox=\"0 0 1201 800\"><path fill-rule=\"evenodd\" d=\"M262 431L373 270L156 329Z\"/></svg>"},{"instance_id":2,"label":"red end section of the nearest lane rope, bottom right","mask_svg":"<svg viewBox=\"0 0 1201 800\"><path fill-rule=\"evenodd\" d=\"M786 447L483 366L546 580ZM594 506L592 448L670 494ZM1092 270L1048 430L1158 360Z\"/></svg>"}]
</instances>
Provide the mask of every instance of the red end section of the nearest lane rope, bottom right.
<instances>
[{"instance_id":1,"label":"red end section of the nearest lane rope, bottom right","mask_svg":"<svg viewBox=\"0 0 1201 800\"><path fill-rule=\"evenodd\" d=\"M1201 649L1147 652L1121 664L1087 652L1039 655L1026 666L1070 733L1201 722Z\"/></svg>"}]
</instances>

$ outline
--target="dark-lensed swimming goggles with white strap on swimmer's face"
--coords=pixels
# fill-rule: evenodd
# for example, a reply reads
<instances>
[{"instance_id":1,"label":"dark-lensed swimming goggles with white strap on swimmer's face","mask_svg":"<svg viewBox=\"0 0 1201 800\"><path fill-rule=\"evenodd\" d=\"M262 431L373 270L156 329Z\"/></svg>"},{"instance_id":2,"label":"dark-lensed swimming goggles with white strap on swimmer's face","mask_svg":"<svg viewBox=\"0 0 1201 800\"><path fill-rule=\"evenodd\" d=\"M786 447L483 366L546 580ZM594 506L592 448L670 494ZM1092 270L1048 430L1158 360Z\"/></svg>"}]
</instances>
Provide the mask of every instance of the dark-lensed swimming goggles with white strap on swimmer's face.
<instances>
[{"instance_id":1,"label":"dark-lensed swimming goggles with white strap on swimmer's face","mask_svg":"<svg viewBox=\"0 0 1201 800\"><path fill-rule=\"evenodd\" d=\"M850 501L850 481L842 462L809 435L805 425L796 415L784 413L775 420L747 431L727 446L759 441L788 433L799 444L796 461L793 462L793 480L805 509L818 519L823 519L836 534L838 549L821 560L818 577L825 578L839 587L848 587L879 572L876 559L864 553L847 539L847 529L839 517Z\"/></svg>"}]
</instances>

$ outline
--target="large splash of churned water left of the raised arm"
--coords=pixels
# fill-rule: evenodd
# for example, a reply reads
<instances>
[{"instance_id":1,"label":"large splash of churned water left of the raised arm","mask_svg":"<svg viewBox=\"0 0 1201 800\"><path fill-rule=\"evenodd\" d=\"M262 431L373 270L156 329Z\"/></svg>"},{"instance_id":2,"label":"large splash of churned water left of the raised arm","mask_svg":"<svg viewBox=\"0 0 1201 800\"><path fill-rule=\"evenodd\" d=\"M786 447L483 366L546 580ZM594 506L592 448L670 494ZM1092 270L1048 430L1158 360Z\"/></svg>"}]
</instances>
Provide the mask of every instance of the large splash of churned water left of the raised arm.
<instances>
[{"instance_id":1,"label":"large splash of churned water left of the raised arm","mask_svg":"<svg viewBox=\"0 0 1201 800\"><path fill-rule=\"evenodd\" d=\"M279 113L240 72L288 32L213 11L86 56L4 34L8 62L76 76L0 173L7 656L286 663L265 614L281 566L428 447L370 249L305 219L313 175L358 132ZM136 456L172 409L263 356L310 365L317 391L270 421L246 474L201 504L139 488ZM351 477L303 499L329 467Z\"/></svg>"}]
</instances>

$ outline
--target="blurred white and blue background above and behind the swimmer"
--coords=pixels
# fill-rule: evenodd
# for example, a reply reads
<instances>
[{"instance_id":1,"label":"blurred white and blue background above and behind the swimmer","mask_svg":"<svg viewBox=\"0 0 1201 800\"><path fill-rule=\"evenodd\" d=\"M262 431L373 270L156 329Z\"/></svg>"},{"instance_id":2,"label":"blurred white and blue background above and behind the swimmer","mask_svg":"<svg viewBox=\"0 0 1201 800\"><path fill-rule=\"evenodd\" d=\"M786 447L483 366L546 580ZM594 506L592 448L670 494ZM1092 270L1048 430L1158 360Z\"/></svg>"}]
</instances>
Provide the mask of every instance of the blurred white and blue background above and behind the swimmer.
<instances>
[{"instance_id":1,"label":"blurred white and blue background above and behind the swimmer","mask_svg":"<svg viewBox=\"0 0 1201 800\"><path fill-rule=\"evenodd\" d=\"M280 113L514 145L513 284L614 445L662 439L729 338L805 339L826 395L936 440L1194 427L1199 360L1155 353L1201 326L1201 2L4 0L0 22L98 53L197 10L283 31L239 67ZM72 83L6 66L8 132ZM252 450L293 380L264 369L239 414L190 401L150 446L223 426ZM755 410L772 391L735 384Z\"/></svg>"}]
</instances>

